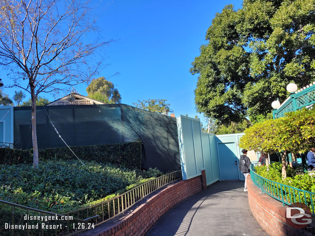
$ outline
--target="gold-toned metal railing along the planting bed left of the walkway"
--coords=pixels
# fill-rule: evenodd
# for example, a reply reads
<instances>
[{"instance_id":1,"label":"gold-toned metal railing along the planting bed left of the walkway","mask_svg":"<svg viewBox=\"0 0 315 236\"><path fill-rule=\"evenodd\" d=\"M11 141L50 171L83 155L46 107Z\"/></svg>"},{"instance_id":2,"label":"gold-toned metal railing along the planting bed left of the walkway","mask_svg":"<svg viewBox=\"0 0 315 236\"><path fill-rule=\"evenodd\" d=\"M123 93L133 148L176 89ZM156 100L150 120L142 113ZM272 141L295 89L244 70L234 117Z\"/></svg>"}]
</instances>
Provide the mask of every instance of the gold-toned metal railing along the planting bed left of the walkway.
<instances>
[{"instance_id":1,"label":"gold-toned metal railing along the planting bed left of the walkway","mask_svg":"<svg viewBox=\"0 0 315 236\"><path fill-rule=\"evenodd\" d=\"M75 211L58 214L54 212L42 211L23 205L0 200L0 235L13 236L46 236L46 235L75 235L90 228L106 222L117 215L124 214L131 206L152 192L163 186L182 179L181 170L157 177L151 181L143 183L124 194L112 199L102 201L95 205L80 208ZM30 216L26 217L25 216ZM32 217L32 218L31 218ZM40 220L34 220L33 217L40 217ZM57 219L56 219L57 217ZM45 220L45 218L49 220ZM42 220L44 219L44 220ZM31 229L4 229L4 226L28 225L38 228ZM47 228L42 228L42 223ZM54 226L60 225L60 228Z\"/></svg>"}]
</instances>

